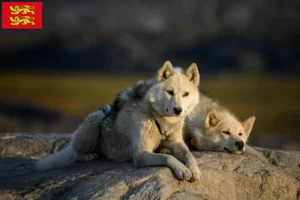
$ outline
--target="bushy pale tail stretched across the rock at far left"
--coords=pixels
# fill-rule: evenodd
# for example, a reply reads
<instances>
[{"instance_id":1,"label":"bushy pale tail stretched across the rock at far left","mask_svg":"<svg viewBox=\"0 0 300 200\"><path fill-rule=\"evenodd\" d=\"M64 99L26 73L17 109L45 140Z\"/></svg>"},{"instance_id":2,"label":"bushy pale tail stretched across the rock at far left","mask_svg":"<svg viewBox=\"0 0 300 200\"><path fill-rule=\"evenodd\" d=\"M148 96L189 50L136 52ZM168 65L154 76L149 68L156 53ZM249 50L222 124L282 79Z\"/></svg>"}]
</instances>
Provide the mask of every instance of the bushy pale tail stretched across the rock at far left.
<instances>
[{"instance_id":1,"label":"bushy pale tail stretched across the rock at far left","mask_svg":"<svg viewBox=\"0 0 300 200\"><path fill-rule=\"evenodd\" d=\"M63 150L37 161L36 168L38 170L48 170L56 167L70 165L77 160L77 157L78 155L73 149L73 145L71 143Z\"/></svg>"}]
</instances>

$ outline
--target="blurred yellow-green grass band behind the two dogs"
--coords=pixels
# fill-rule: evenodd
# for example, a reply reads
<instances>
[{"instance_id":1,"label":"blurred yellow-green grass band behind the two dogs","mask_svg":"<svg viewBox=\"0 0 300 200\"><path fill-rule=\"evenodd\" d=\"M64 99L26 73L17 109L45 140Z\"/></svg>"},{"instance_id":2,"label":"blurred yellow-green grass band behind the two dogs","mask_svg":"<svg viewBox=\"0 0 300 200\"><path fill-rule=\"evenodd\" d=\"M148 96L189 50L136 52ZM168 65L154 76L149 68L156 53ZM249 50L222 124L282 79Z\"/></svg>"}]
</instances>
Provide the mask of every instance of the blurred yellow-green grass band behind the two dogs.
<instances>
[{"instance_id":1,"label":"blurred yellow-green grass band behind the two dogs","mask_svg":"<svg viewBox=\"0 0 300 200\"><path fill-rule=\"evenodd\" d=\"M124 87L146 76L86 74L1 74L0 97L70 115L84 116L113 101ZM201 88L227 105L239 118L255 115L255 131L300 131L300 80L268 76L224 76L205 79Z\"/></svg>"}]
</instances>

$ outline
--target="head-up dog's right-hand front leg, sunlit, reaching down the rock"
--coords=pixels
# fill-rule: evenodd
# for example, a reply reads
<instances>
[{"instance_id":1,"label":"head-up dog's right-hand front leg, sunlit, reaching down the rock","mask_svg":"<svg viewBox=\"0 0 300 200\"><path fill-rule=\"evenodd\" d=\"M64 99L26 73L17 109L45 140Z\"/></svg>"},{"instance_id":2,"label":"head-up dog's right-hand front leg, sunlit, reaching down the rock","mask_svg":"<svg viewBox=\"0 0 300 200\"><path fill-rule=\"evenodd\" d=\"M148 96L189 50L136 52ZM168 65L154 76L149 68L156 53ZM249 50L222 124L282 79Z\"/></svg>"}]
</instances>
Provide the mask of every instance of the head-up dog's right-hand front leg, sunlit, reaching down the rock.
<instances>
[{"instance_id":1,"label":"head-up dog's right-hand front leg, sunlit, reaching down the rock","mask_svg":"<svg viewBox=\"0 0 300 200\"><path fill-rule=\"evenodd\" d=\"M185 165L191 170L193 178L196 180L200 179L200 170L197 165L196 159L186 146L184 141L166 141L163 146L171 149L173 155L178 160L185 163Z\"/></svg>"}]
</instances>

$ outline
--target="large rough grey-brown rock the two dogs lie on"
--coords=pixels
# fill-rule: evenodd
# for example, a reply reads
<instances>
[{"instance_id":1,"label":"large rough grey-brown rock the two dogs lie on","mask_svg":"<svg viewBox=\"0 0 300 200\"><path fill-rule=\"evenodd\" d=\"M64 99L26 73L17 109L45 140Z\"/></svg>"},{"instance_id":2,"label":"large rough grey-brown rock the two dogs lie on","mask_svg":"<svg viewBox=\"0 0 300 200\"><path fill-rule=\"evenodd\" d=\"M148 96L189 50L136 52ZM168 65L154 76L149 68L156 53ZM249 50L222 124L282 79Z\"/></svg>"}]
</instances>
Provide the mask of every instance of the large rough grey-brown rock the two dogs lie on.
<instances>
[{"instance_id":1,"label":"large rough grey-brown rock the two dogs lie on","mask_svg":"<svg viewBox=\"0 0 300 200\"><path fill-rule=\"evenodd\" d=\"M97 160L39 172L36 159L67 145L66 135L0 135L0 199L300 199L300 152L258 148L251 155L194 152L200 181L167 167Z\"/></svg>"}]
</instances>

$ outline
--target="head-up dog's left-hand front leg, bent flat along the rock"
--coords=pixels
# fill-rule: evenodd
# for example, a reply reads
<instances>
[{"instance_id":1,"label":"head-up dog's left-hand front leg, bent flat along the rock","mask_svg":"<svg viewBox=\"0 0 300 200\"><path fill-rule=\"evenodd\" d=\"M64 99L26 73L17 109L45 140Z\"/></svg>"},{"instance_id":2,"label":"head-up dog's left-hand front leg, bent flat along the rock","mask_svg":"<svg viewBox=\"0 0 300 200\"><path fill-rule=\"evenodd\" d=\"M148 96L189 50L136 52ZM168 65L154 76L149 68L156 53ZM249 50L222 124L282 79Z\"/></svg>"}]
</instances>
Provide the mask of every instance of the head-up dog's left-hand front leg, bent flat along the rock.
<instances>
[{"instance_id":1,"label":"head-up dog's left-hand front leg, bent flat along the rock","mask_svg":"<svg viewBox=\"0 0 300 200\"><path fill-rule=\"evenodd\" d=\"M133 161L136 167L168 166L179 179L190 180L192 177L191 171L172 155L143 151L135 153Z\"/></svg>"}]
</instances>

